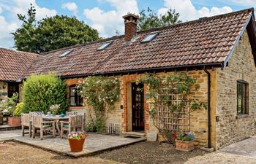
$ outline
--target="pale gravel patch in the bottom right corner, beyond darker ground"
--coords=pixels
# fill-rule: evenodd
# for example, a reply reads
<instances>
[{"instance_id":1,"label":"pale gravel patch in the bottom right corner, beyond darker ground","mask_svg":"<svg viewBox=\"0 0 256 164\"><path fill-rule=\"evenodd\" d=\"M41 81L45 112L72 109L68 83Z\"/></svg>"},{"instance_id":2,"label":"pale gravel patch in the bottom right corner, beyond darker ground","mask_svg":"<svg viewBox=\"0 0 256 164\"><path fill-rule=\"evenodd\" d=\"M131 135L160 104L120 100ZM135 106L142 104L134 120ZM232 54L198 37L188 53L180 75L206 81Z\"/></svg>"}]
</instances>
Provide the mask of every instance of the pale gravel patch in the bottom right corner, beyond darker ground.
<instances>
[{"instance_id":1,"label":"pale gravel patch in the bottom right corner, beyond darker ground","mask_svg":"<svg viewBox=\"0 0 256 164\"><path fill-rule=\"evenodd\" d=\"M225 152L213 152L203 156L190 158L184 164L255 164L256 160L252 157L242 155L227 154Z\"/></svg>"}]
</instances>

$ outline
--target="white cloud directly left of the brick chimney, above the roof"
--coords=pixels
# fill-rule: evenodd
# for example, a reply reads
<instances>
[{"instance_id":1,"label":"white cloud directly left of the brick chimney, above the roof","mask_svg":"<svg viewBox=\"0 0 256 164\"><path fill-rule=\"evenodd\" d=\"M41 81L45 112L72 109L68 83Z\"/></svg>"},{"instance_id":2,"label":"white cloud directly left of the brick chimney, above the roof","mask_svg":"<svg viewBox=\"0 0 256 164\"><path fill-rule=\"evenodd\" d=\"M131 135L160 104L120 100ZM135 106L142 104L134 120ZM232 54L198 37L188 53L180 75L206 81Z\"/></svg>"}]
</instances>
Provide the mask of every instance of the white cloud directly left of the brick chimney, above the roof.
<instances>
[{"instance_id":1,"label":"white cloud directly left of the brick chimney, above the roof","mask_svg":"<svg viewBox=\"0 0 256 164\"><path fill-rule=\"evenodd\" d=\"M102 37L110 37L116 35L116 30L120 33L124 33L124 20L123 15L128 12L138 14L137 0L100 0L99 2L107 2L114 9L104 11L98 7L92 9L84 9L83 15L91 21L91 26L97 31Z\"/></svg>"}]
</instances>

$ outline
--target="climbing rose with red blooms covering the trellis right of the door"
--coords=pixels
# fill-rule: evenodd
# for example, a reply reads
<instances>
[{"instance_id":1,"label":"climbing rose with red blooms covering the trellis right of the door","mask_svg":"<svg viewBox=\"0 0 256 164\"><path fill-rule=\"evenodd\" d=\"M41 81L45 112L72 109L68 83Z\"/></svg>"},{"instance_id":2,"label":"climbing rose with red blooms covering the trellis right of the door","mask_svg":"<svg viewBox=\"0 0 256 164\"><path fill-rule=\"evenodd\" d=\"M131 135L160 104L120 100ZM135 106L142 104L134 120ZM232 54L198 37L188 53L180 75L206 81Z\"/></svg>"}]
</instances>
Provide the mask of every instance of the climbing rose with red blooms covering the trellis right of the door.
<instances>
[{"instance_id":1,"label":"climbing rose with red blooms covering the trellis right of the door","mask_svg":"<svg viewBox=\"0 0 256 164\"><path fill-rule=\"evenodd\" d=\"M174 143L176 134L180 131L180 118L183 114L207 108L205 103L189 98L192 86L198 89L198 85L195 85L196 79L186 73L170 74L165 77L147 74L146 79L142 81L148 86L149 115L167 143ZM159 117L160 106L165 106L171 122L165 122L166 116ZM170 124L171 128L168 126Z\"/></svg>"}]
</instances>

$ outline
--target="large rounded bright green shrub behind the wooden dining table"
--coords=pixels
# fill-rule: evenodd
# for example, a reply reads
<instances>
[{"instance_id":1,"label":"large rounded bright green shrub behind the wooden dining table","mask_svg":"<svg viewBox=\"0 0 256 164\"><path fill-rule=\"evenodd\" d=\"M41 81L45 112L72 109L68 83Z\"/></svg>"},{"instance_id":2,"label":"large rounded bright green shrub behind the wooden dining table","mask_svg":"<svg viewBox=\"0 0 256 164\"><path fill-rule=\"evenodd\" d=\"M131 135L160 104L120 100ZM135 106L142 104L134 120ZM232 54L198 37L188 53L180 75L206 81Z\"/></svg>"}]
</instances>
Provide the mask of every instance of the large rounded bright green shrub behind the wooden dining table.
<instances>
[{"instance_id":1,"label":"large rounded bright green shrub behind the wooden dining table","mask_svg":"<svg viewBox=\"0 0 256 164\"><path fill-rule=\"evenodd\" d=\"M57 114L67 111L67 85L55 74L32 75L23 85L23 113L49 112L50 106L60 104Z\"/></svg>"}]
</instances>

